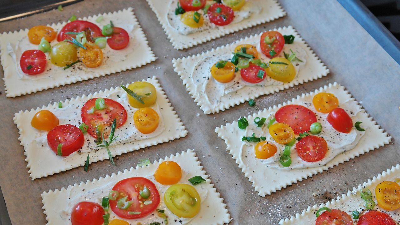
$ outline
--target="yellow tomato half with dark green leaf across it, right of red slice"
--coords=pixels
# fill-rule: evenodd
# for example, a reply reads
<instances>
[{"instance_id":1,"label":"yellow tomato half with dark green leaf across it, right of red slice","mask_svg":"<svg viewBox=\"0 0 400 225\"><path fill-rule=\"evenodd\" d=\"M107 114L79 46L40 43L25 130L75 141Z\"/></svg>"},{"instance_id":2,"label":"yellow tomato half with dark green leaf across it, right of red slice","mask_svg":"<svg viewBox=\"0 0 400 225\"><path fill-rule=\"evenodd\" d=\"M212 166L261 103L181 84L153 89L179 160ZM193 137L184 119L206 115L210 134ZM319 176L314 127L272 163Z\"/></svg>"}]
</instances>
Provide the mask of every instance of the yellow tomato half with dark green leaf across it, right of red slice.
<instances>
[{"instance_id":1,"label":"yellow tomato half with dark green leaf across it, right of red slice","mask_svg":"<svg viewBox=\"0 0 400 225\"><path fill-rule=\"evenodd\" d=\"M265 72L274 80L278 80L281 82L290 82L296 76L296 69L294 68L293 64L286 58L272 58L269 62L269 65L270 66L265 69Z\"/></svg>"}]
</instances>

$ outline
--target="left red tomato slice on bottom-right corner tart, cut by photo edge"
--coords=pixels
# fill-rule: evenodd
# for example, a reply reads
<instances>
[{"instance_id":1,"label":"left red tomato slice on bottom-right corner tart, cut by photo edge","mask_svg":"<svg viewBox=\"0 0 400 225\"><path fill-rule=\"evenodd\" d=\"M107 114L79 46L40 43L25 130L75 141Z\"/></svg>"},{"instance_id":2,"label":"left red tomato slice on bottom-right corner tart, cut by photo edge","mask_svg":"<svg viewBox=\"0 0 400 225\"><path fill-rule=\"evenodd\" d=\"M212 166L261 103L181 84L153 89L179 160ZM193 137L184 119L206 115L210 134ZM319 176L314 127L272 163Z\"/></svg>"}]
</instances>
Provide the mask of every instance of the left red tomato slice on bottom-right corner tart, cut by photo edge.
<instances>
[{"instance_id":1,"label":"left red tomato slice on bottom-right corner tart, cut by photo edge","mask_svg":"<svg viewBox=\"0 0 400 225\"><path fill-rule=\"evenodd\" d=\"M353 219L346 212L338 209L332 209L322 213L315 225L353 225Z\"/></svg>"}]
</instances>

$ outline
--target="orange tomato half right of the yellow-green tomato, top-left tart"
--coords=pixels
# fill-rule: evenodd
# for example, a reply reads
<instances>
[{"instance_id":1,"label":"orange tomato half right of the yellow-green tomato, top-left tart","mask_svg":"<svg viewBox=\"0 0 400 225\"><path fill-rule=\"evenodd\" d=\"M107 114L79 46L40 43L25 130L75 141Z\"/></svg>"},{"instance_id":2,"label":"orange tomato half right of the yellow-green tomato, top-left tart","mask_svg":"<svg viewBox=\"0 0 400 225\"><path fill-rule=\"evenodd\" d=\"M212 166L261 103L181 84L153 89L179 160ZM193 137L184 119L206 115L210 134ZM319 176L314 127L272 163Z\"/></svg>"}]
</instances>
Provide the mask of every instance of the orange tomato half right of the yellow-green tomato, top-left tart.
<instances>
[{"instance_id":1,"label":"orange tomato half right of the yellow-green tomato, top-left tart","mask_svg":"<svg viewBox=\"0 0 400 225\"><path fill-rule=\"evenodd\" d=\"M79 48L80 60L89 68L98 67L103 62L103 51L97 45L84 44L86 49Z\"/></svg>"}]
</instances>

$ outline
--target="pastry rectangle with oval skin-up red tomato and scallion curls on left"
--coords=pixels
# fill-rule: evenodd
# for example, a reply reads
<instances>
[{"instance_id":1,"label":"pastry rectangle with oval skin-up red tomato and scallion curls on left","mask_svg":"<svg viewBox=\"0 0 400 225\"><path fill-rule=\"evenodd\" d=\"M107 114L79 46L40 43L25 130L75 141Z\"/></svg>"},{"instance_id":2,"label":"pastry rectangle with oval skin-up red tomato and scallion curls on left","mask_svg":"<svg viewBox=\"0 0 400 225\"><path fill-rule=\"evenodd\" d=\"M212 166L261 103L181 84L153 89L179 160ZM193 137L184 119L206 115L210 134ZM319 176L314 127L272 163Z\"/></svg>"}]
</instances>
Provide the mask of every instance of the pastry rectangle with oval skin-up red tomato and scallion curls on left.
<instances>
[{"instance_id":1,"label":"pastry rectangle with oval skin-up red tomato and scallion curls on left","mask_svg":"<svg viewBox=\"0 0 400 225\"><path fill-rule=\"evenodd\" d=\"M336 82L215 131L260 196L391 140Z\"/></svg>"}]
</instances>

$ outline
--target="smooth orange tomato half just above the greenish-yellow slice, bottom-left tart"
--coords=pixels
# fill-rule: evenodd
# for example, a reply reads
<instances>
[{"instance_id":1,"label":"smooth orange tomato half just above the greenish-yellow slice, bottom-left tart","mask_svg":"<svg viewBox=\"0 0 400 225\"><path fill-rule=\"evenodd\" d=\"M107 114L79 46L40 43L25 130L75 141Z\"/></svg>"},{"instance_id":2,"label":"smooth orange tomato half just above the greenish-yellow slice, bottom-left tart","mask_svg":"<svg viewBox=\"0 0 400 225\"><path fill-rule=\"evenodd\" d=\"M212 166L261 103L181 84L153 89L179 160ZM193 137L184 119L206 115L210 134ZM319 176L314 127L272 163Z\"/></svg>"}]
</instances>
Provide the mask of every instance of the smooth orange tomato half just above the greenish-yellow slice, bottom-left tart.
<instances>
[{"instance_id":1,"label":"smooth orange tomato half just above the greenish-yellow slice, bottom-left tart","mask_svg":"<svg viewBox=\"0 0 400 225\"><path fill-rule=\"evenodd\" d=\"M182 169L174 161L164 161L157 167L154 177L158 183L163 185L174 185L182 177Z\"/></svg>"}]
</instances>

